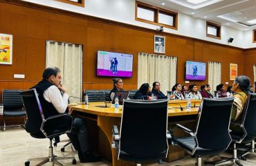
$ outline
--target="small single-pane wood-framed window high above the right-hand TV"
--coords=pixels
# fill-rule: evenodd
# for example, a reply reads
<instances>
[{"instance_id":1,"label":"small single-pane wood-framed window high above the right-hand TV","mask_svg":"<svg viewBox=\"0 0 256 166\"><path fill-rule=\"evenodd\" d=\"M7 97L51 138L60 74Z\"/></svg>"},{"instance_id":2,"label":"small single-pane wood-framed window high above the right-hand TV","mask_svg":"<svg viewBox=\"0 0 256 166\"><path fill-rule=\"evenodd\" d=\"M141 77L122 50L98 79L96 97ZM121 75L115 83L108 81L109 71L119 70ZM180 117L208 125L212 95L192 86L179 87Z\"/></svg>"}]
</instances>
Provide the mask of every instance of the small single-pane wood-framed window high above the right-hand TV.
<instances>
[{"instance_id":1,"label":"small single-pane wood-framed window high above the right-hand TV","mask_svg":"<svg viewBox=\"0 0 256 166\"><path fill-rule=\"evenodd\" d=\"M206 21L206 36L221 39L221 26L219 24Z\"/></svg>"}]
</instances>

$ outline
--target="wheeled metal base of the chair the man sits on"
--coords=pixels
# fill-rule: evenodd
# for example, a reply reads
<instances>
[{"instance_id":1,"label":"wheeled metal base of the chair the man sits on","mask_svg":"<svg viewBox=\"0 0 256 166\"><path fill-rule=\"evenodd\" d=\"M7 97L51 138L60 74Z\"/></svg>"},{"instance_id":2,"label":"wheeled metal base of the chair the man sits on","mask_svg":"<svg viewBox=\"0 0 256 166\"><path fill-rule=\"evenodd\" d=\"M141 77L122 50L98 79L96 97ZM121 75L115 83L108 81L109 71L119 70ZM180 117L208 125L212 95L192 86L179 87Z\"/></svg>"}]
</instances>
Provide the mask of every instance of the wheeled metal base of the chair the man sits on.
<instances>
[{"instance_id":1,"label":"wheeled metal base of the chair the man sits on","mask_svg":"<svg viewBox=\"0 0 256 166\"><path fill-rule=\"evenodd\" d=\"M58 160L67 160L67 159L72 159L72 164L76 165L76 160L75 157L57 157L53 154L53 145L52 145L52 140L50 139L50 147L49 147L49 156L48 157L43 157L43 158L30 158L25 162L25 166L30 165L30 161L33 160L42 160L40 163L38 163L36 166L44 165L45 163L51 162L56 165L63 166L62 163L60 163Z\"/></svg>"}]
</instances>

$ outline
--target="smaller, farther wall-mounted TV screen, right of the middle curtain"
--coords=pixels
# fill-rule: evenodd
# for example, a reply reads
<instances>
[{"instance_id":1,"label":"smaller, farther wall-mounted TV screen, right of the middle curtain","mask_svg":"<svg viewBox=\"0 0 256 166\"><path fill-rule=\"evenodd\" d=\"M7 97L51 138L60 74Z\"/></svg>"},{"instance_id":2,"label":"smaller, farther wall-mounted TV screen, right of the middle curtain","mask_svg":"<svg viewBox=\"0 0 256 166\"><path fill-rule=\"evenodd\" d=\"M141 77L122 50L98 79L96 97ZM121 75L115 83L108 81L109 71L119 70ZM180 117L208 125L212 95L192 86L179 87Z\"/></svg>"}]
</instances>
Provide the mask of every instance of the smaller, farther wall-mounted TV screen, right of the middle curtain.
<instances>
[{"instance_id":1,"label":"smaller, farther wall-mounted TV screen, right of the middle curtain","mask_svg":"<svg viewBox=\"0 0 256 166\"><path fill-rule=\"evenodd\" d=\"M185 80L205 80L206 64L203 62L186 62Z\"/></svg>"}]
</instances>

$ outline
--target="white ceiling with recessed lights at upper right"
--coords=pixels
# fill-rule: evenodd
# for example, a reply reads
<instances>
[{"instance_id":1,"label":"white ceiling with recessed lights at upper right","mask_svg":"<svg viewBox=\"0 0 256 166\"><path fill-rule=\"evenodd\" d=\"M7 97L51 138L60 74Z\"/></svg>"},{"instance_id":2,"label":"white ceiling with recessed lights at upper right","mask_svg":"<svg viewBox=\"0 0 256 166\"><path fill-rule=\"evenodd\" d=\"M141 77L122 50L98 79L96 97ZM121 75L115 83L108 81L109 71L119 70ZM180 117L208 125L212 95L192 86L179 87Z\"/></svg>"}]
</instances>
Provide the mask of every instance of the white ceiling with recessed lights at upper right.
<instances>
[{"instance_id":1,"label":"white ceiling with recessed lights at upper right","mask_svg":"<svg viewBox=\"0 0 256 166\"><path fill-rule=\"evenodd\" d=\"M256 0L138 0L160 8L237 28L256 29L247 21L256 19ZM190 1L201 1L191 3ZM165 5L162 5L165 3Z\"/></svg>"}]
</instances>

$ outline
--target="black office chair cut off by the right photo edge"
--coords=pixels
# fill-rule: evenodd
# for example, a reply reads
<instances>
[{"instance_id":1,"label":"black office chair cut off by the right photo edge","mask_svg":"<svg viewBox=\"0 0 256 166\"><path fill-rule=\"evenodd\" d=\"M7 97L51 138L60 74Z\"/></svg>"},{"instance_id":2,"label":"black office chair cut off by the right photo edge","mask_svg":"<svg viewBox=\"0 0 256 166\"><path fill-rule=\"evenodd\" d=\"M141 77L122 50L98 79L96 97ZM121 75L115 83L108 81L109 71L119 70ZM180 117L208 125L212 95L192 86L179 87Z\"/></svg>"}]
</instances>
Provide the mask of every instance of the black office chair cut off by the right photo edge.
<instances>
[{"instance_id":1,"label":"black office chair cut off by the right photo edge","mask_svg":"<svg viewBox=\"0 0 256 166\"><path fill-rule=\"evenodd\" d=\"M237 144L248 144L251 142L251 148L246 151L244 154L241 154L241 159L246 160L245 156L251 153L255 153L255 138L256 138L256 93L250 93L247 96L246 104L242 112L241 120L235 122L230 122L230 125L239 127L241 132L232 131L230 133L233 143L233 156L229 160L224 160L216 165L227 163L232 160L232 163L235 163L241 166L240 160L237 158Z\"/></svg>"}]
</instances>

